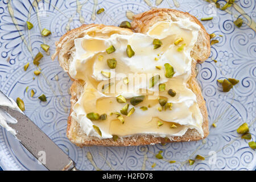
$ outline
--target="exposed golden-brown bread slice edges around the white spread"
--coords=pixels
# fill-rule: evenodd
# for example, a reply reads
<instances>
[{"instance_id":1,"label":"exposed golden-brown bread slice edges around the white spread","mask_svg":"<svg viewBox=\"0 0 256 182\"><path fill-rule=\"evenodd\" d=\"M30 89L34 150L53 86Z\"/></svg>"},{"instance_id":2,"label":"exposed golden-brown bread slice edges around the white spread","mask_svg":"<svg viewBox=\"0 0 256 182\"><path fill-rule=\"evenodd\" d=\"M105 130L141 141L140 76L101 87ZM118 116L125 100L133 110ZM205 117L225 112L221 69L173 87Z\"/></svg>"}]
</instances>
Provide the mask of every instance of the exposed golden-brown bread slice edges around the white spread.
<instances>
[{"instance_id":1,"label":"exposed golden-brown bread slice edges around the white spread","mask_svg":"<svg viewBox=\"0 0 256 182\"><path fill-rule=\"evenodd\" d=\"M199 36L195 47L191 52L192 56L192 74L190 80L187 82L189 88L196 94L197 104L200 107L201 114L203 115L203 131L204 138L208 136L208 114L207 107L205 106L205 101L201 93L201 88L196 81L196 63L203 62L209 57L210 54L210 43L209 35L205 31L203 25L194 16L189 15L177 10L171 9L152 9L146 11L145 13L138 14L134 16L134 20L131 26L135 32L145 33L152 24L158 21L168 21L174 22L181 18L189 18L192 22L195 22L201 26L199 31ZM88 24L82 25L79 28L73 29L63 35L59 42L56 42L56 52L52 56L55 59L56 56L59 58L60 66L64 71L68 72L69 64L73 59L72 52L75 50L74 40L76 38L81 38L86 34L90 36L97 36L106 38L112 34L133 34L133 31L127 28L119 28L114 26L104 26L102 24ZM70 92L71 92L71 110L73 111L73 105L79 100L84 89L84 82L80 80L74 80ZM69 115L68 127L67 127L67 137L71 142L75 143L77 146L89 146L89 145L101 145L101 146L138 146L145 144L156 144L156 143L168 143L168 142L181 142L181 141L192 141L202 139L201 135L196 129L188 129L187 132L182 137L171 137L160 138L154 137L152 135L139 134L133 137L123 137L118 138L116 141L113 139L99 139L97 137L88 137L81 130L79 123Z\"/></svg>"}]
</instances>

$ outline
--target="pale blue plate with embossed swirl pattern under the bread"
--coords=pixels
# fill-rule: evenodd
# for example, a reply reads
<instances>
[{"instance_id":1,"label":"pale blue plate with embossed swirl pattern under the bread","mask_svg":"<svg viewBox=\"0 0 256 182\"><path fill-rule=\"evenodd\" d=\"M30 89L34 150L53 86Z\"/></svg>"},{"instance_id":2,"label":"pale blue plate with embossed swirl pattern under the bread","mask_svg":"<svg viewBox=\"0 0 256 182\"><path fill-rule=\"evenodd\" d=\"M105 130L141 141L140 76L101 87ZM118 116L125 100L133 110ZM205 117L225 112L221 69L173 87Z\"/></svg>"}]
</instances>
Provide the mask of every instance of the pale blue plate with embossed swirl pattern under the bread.
<instances>
[{"instance_id":1,"label":"pale blue plate with embossed swirl pattern under the bread","mask_svg":"<svg viewBox=\"0 0 256 182\"><path fill-rule=\"evenodd\" d=\"M221 6L225 3L224 0L218 2ZM256 17L255 1L235 3L236 6L221 11L203 0L0 0L0 89L14 100L22 98L28 117L75 160L81 170L254 170L255 150L248 146L249 140L241 139L236 129L247 122L251 140L255 141L255 22L254 30L248 26L250 18L255 20ZM105 12L96 14L102 7ZM40 48L43 43L50 46L52 54L55 41L82 23L118 26L127 20L127 10L138 14L151 7L187 11L199 19L213 16L203 24L209 33L217 35L214 39L219 43L212 46L209 59L197 65L197 78L209 113L209 137L197 142L155 146L76 147L65 134L70 108L68 88L72 82L58 61L52 61L46 53L40 63L42 74L33 79L32 56L38 51L44 52ZM240 28L233 23L237 18L244 22ZM34 28L28 30L26 21L34 24ZM42 28L51 30L51 36L43 38L40 35ZM30 67L24 72L23 67L28 62ZM216 80L229 77L240 82L230 92L224 93ZM35 91L33 98L30 97L31 89ZM47 102L38 100L41 94L47 96ZM213 122L216 128L211 126ZM162 160L155 158L160 150L163 151ZM204 156L205 160L195 160L190 166L188 159L195 159L197 154ZM170 160L176 163L169 163ZM156 165L152 168L154 163ZM2 127L0 166L4 170L46 169Z\"/></svg>"}]
</instances>

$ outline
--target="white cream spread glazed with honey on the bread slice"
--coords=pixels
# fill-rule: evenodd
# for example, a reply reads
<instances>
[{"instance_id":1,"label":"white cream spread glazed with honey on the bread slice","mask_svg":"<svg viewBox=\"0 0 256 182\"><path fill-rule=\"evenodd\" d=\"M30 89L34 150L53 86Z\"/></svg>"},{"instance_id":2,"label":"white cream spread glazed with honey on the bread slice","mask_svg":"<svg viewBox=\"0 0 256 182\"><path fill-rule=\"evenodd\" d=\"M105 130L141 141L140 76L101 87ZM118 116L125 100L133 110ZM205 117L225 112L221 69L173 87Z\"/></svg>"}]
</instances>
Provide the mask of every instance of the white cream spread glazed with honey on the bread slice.
<instances>
[{"instance_id":1,"label":"white cream spread glazed with honey on the bread slice","mask_svg":"<svg viewBox=\"0 0 256 182\"><path fill-rule=\"evenodd\" d=\"M198 24L181 19L155 23L146 34L112 34L107 38L85 35L75 39L76 51L73 52L69 75L86 84L71 115L85 134L100 139L137 134L170 138L183 136L188 129L196 129L203 137L203 116L195 94L187 86L191 77L191 50L199 30ZM174 44L179 38L185 43L182 51L177 51L181 44ZM154 39L160 39L162 46L154 49ZM127 45L135 52L134 56L127 56ZM109 46L115 47L113 53L106 53ZM107 60L113 58L117 60L117 66L110 69ZM166 63L174 68L172 78L165 76ZM110 73L110 77L104 76L102 71ZM155 75L160 76L159 82L150 88L148 83ZM128 84L123 81L127 78ZM158 84L166 84L166 90L159 91ZM176 96L171 97L168 89L175 90ZM127 102L118 103L116 97L119 95L125 97ZM142 95L145 98L141 103L135 106L130 104L131 97ZM159 96L172 103L172 110L159 111ZM134 107L135 111L129 117L123 115L125 122L122 123L112 113L119 112L126 104L130 104L129 110ZM142 110L142 106L146 106L147 110ZM86 114L92 112L105 113L107 118L91 121ZM159 127L158 121L163 125ZM171 128L171 125L177 127ZM101 136L93 126L100 129Z\"/></svg>"}]
</instances>

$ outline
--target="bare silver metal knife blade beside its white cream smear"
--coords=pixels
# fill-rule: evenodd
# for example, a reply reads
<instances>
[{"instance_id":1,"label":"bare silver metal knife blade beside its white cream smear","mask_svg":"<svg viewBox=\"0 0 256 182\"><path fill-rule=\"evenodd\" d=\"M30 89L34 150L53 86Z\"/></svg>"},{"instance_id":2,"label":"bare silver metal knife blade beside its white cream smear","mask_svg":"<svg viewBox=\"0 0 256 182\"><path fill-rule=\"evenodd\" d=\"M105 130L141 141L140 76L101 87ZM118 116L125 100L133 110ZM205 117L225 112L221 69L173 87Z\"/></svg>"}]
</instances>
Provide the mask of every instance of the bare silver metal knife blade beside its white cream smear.
<instances>
[{"instance_id":1,"label":"bare silver metal knife blade beside its white cream smear","mask_svg":"<svg viewBox=\"0 0 256 182\"><path fill-rule=\"evenodd\" d=\"M0 94L3 94L1 90ZM7 98L9 99L9 97ZM75 162L43 133L30 118L8 106L0 105L0 109L18 121L17 123L9 123L9 126L17 131L15 136L19 139L20 143L38 160L42 156L41 154L45 155L43 165L47 169L50 171L77 171Z\"/></svg>"}]
</instances>

